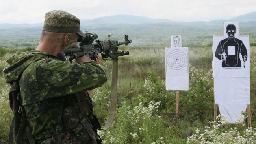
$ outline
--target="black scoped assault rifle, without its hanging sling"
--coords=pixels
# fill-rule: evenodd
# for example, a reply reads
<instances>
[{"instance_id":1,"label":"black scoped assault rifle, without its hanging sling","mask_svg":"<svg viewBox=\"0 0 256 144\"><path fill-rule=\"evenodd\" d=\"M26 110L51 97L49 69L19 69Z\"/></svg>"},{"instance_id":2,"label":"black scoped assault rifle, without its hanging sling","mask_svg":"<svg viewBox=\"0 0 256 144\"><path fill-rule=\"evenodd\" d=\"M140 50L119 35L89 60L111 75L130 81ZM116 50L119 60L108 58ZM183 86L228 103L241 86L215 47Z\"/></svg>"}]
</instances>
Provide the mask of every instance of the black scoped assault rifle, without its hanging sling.
<instances>
[{"instance_id":1,"label":"black scoped assault rifle, without its hanging sling","mask_svg":"<svg viewBox=\"0 0 256 144\"><path fill-rule=\"evenodd\" d=\"M97 34L85 32L86 37L83 38L79 43L80 47L66 49L57 54L57 59L59 60L69 60L72 62L73 59L87 56L91 60L95 60L98 53L101 53L102 59L110 58L113 59L118 56L129 55L129 51L118 51L120 45L125 44L126 46L132 42L128 40L128 35L124 35L124 41L118 42L118 40L96 40L93 44L93 41L98 38Z\"/></svg>"}]
</instances>

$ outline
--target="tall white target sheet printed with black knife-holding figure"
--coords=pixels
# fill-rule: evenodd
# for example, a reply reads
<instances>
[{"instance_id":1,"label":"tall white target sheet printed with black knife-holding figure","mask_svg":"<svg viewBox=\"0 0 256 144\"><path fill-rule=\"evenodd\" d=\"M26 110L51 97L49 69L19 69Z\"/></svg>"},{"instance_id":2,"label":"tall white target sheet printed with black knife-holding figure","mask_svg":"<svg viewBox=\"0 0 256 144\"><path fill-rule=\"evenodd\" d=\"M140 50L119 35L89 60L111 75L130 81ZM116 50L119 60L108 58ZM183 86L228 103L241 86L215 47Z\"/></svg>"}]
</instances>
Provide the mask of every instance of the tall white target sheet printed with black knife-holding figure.
<instances>
[{"instance_id":1,"label":"tall white target sheet printed with black knife-holding figure","mask_svg":"<svg viewBox=\"0 0 256 144\"><path fill-rule=\"evenodd\" d=\"M223 36L213 37L214 99L229 123L243 122L250 104L250 42L239 36L239 23L224 23Z\"/></svg>"}]
</instances>

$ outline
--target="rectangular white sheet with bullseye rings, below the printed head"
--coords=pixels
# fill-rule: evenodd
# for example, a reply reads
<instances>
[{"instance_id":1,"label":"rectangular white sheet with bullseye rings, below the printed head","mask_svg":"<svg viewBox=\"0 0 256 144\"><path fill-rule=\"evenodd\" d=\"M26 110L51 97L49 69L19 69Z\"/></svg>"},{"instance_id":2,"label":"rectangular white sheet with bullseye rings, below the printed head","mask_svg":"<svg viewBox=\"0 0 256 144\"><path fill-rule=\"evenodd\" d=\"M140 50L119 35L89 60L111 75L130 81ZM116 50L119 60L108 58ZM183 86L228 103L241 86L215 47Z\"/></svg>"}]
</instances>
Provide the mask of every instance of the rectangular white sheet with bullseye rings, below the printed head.
<instances>
[{"instance_id":1,"label":"rectangular white sheet with bullseye rings, below the printed head","mask_svg":"<svg viewBox=\"0 0 256 144\"><path fill-rule=\"evenodd\" d=\"M188 48L165 48L166 90L189 90Z\"/></svg>"}]
</instances>

